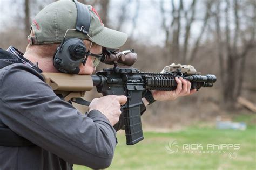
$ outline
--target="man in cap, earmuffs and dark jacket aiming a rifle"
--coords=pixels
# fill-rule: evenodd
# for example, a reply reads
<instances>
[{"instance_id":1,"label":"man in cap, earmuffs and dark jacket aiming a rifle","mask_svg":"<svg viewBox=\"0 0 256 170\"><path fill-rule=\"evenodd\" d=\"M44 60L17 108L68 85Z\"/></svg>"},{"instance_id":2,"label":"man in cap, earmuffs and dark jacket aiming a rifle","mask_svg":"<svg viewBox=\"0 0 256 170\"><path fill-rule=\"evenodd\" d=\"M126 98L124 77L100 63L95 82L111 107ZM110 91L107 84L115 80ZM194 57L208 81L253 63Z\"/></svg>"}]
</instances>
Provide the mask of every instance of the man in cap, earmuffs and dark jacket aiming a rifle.
<instances>
[{"instance_id":1,"label":"man in cap, earmuffs and dark jacket aiming a rifle","mask_svg":"<svg viewBox=\"0 0 256 170\"><path fill-rule=\"evenodd\" d=\"M113 126L127 97L95 98L84 115L56 95L41 73L91 75L103 47L118 48L126 40L127 34L104 27L92 6L57 1L33 19L24 54L12 46L0 49L0 169L110 166L117 144ZM196 91L184 78L174 80L175 90L149 90L151 98L174 100Z\"/></svg>"}]
</instances>

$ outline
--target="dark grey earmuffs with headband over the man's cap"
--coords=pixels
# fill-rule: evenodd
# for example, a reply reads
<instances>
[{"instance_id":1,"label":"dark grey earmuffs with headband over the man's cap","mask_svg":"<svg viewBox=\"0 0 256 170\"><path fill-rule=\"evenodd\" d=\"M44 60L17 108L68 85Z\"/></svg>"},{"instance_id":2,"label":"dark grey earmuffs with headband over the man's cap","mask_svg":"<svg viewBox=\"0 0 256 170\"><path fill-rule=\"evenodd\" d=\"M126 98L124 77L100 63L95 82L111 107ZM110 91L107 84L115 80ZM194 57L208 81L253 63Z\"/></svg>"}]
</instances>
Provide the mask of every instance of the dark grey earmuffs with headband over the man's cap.
<instances>
[{"instance_id":1,"label":"dark grey earmuffs with headband over the man's cap","mask_svg":"<svg viewBox=\"0 0 256 170\"><path fill-rule=\"evenodd\" d=\"M66 33L69 30L77 30L87 35L91 24L90 12L84 4L77 1L74 2L77 8L76 29L68 29ZM65 40L66 33L53 57L53 66L63 73L78 74L80 71L79 66L81 63L85 65L89 51L86 52L84 42L78 38Z\"/></svg>"}]
</instances>

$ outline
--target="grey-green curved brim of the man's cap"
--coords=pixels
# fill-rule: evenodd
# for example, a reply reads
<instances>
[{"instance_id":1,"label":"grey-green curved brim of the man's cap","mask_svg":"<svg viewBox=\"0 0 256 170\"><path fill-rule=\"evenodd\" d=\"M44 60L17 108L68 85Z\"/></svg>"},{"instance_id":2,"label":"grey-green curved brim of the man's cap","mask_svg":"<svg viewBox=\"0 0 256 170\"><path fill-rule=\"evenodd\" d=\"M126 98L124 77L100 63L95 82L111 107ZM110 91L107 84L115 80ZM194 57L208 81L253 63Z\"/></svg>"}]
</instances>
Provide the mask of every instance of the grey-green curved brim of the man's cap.
<instances>
[{"instance_id":1,"label":"grey-green curved brim of the man's cap","mask_svg":"<svg viewBox=\"0 0 256 170\"><path fill-rule=\"evenodd\" d=\"M93 42L106 48L118 48L127 40L126 33L104 27L103 31L93 36Z\"/></svg>"}]
</instances>

